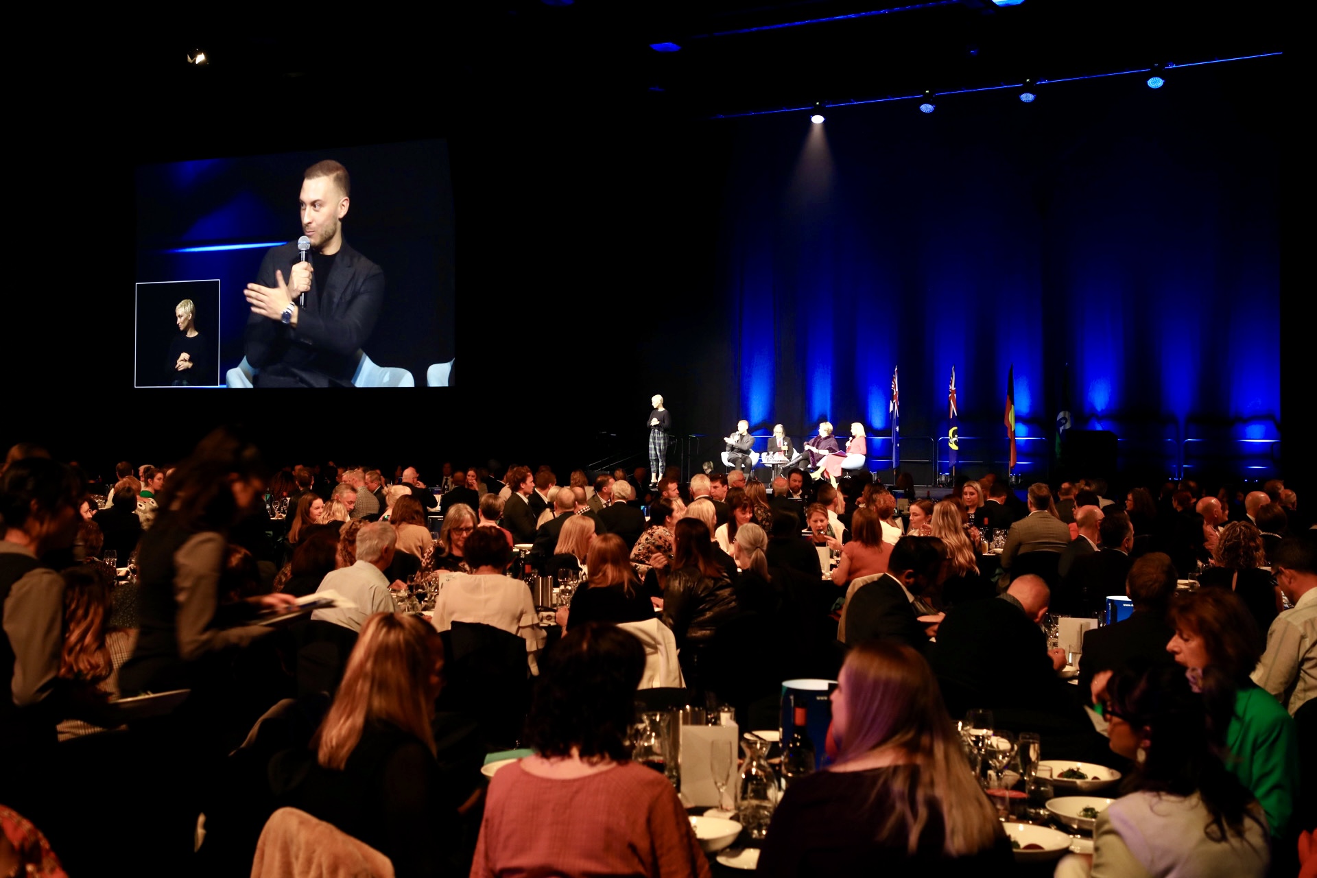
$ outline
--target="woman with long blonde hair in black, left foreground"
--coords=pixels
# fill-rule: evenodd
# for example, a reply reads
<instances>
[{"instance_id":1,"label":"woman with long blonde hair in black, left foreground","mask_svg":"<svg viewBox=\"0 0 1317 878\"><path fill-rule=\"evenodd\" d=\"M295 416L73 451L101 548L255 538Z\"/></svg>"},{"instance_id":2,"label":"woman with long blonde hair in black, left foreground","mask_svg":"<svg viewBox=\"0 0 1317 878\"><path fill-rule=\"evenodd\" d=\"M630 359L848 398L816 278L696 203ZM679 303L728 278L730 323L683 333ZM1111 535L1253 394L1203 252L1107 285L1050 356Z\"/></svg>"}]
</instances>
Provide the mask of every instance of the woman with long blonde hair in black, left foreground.
<instances>
[{"instance_id":1,"label":"woman with long blonde hair in black, left foreground","mask_svg":"<svg viewBox=\"0 0 1317 878\"><path fill-rule=\"evenodd\" d=\"M281 806L332 823L379 850L399 875L449 874L456 812L435 761L431 719L444 648L415 616L366 620L329 712L304 750L270 765ZM446 840L432 837L433 832ZM445 844L446 841L446 844ZM449 846L452 845L452 846Z\"/></svg>"}]
</instances>

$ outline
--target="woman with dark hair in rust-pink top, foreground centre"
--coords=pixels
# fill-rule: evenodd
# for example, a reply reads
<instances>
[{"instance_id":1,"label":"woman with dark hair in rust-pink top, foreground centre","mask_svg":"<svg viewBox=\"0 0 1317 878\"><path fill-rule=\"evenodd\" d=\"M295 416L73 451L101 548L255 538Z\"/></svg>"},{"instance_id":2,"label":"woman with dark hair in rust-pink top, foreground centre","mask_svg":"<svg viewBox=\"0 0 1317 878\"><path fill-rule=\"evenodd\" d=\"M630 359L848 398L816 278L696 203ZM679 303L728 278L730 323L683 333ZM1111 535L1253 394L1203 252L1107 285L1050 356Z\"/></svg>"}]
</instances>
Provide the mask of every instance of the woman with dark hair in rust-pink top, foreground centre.
<instances>
[{"instance_id":1,"label":"woman with dark hair in rust-pink top, foreground centre","mask_svg":"<svg viewBox=\"0 0 1317 878\"><path fill-rule=\"evenodd\" d=\"M490 781L471 878L709 875L677 792L631 761L640 641L586 623L549 653L527 720L536 756Z\"/></svg>"}]
</instances>

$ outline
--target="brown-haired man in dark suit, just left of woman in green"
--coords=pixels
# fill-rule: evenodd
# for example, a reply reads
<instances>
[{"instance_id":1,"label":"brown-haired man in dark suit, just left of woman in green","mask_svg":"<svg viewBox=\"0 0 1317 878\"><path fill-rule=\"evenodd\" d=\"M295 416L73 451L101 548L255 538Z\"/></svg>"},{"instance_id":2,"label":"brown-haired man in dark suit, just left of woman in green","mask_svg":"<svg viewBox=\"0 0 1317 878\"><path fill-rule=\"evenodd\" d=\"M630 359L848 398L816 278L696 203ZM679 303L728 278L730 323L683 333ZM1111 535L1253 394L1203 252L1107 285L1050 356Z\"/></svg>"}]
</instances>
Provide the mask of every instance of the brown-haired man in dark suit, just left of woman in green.
<instances>
[{"instance_id":1,"label":"brown-haired man in dark suit, just left of woman in green","mask_svg":"<svg viewBox=\"0 0 1317 878\"><path fill-rule=\"evenodd\" d=\"M1175 565L1171 557L1152 552L1130 567L1125 594L1134 602L1129 619L1105 628L1084 632L1084 653L1079 659L1079 694L1092 696L1093 675L1121 670L1131 661L1175 661L1166 652L1175 629L1166 620L1166 609L1175 595Z\"/></svg>"}]
</instances>

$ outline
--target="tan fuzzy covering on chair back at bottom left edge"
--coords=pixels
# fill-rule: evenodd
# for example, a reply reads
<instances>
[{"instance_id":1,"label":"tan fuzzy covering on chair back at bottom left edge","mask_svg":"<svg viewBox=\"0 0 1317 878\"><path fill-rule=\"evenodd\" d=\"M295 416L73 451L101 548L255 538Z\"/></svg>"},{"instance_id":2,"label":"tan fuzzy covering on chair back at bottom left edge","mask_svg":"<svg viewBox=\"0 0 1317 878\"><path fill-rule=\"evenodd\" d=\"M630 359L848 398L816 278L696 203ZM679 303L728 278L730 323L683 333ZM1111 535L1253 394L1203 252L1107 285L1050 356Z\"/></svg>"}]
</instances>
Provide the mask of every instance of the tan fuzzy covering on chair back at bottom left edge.
<instances>
[{"instance_id":1,"label":"tan fuzzy covering on chair back at bottom left edge","mask_svg":"<svg viewBox=\"0 0 1317 878\"><path fill-rule=\"evenodd\" d=\"M394 864L363 841L298 808L279 808L261 831L252 878L394 878Z\"/></svg>"}]
</instances>

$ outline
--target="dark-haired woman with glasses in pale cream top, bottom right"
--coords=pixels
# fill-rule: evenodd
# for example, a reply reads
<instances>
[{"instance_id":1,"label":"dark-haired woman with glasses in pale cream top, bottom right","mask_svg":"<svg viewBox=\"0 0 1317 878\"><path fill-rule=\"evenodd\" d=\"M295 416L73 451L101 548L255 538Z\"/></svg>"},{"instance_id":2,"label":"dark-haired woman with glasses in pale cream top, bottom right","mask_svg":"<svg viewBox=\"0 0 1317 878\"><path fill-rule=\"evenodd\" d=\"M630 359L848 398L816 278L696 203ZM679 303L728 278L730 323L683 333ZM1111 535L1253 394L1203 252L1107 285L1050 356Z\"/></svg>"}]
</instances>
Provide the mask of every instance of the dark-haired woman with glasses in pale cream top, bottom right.
<instances>
[{"instance_id":1,"label":"dark-haired woman with glasses in pale cream top, bottom right","mask_svg":"<svg viewBox=\"0 0 1317 878\"><path fill-rule=\"evenodd\" d=\"M1209 671L1197 690L1166 665L1112 678L1110 746L1137 767L1125 795L1097 816L1092 870L1069 856L1058 878L1267 874L1266 817L1221 760L1234 687Z\"/></svg>"}]
</instances>

